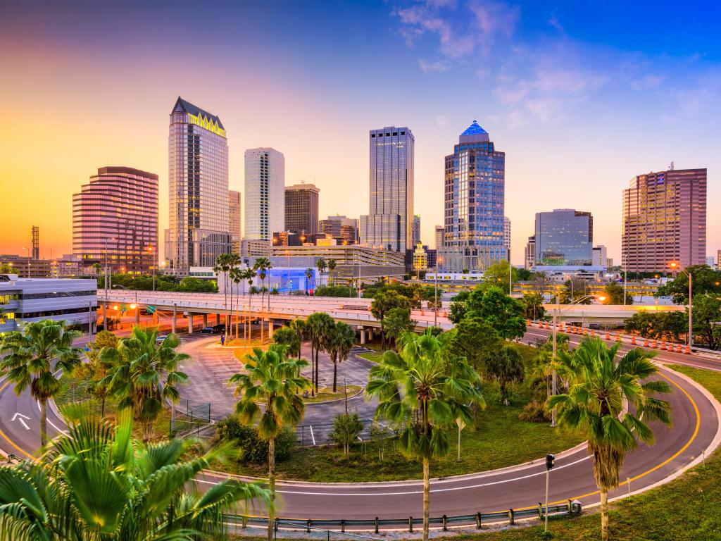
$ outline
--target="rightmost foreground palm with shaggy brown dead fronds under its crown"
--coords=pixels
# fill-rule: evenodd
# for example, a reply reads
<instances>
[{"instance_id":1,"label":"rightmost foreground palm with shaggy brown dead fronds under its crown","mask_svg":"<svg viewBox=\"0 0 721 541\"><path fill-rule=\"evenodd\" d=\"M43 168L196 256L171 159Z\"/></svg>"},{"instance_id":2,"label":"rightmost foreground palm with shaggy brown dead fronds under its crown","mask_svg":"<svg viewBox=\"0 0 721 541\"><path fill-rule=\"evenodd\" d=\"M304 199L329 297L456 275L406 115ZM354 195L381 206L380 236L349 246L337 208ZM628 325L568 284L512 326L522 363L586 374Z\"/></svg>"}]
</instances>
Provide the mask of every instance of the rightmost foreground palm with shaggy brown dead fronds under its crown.
<instances>
[{"instance_id":1,"label":"rightmost foreground palm with shaggy brown dead fronds under its crown","mask_svg":"<svg viewBox=\"0 0 721 541\"><path fill-rule=\"evenodd\" d=\"M588 439L593 476L601 491L603 541L609 539L609 491L619 486L624 458L636 449L637 439L654 444L647 422L671 425L671 406L652 396L671 392L668 383L650 380L658 374L651 361L655 352L634 348L616 360L620 346L609 348L601 338L586 337L575 351L559 351L560 371L569 388L549 399L549 407L559 413L558 423L583 431Z\"/></svg>"}]
</instances>

